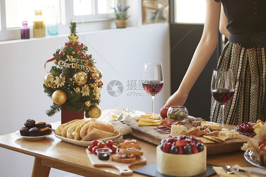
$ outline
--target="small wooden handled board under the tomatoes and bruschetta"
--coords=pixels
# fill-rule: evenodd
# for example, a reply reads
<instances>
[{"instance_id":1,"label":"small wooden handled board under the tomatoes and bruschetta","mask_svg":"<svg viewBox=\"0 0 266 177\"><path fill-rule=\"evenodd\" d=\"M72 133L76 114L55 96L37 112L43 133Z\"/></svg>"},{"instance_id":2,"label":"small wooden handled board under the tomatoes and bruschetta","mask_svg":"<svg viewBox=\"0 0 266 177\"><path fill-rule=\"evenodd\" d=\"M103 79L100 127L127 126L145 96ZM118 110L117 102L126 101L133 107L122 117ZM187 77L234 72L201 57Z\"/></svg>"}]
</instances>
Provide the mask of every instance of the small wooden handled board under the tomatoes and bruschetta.
<instances>
[{"instance_id":1,"label":"small wooden handled board under the tomatoes and bruschetta","mask_svg":"<svg viewBox=\"0 0 266 177\"><path fill-rule=\"evenodd\" d=\"M98 156L90 153L88 149L86 149L86 152L93 166L116 168L119 171L120 175L132 175L133 171L129 167L144 164L147 162L144 156L136 156L136 161L132 163L114 162L112 161L111 157L109 158L109 160L99 160Z\"/></svg>"}]
</instances>

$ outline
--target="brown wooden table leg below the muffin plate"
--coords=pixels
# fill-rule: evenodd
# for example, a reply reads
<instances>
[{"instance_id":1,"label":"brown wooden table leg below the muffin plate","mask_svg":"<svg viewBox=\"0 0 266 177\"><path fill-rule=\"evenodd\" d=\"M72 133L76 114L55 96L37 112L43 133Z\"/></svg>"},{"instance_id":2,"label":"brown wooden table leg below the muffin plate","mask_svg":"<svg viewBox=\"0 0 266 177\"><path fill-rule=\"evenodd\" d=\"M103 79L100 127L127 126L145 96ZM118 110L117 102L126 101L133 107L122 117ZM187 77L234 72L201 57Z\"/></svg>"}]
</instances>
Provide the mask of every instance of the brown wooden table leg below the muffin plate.
<instances>
[{"instance_id":1,"label":"brown wooden table leg below the muffin plate","mask_svg":"<svg viewBox=\"0 0 266 177\"><path fill-rule=\"evenodd\" d=\"M32 169L32 177L48 177L50 170L51 167L43 166L41 164L41 158L35 157Z\"/></svg>"}]
</instances>

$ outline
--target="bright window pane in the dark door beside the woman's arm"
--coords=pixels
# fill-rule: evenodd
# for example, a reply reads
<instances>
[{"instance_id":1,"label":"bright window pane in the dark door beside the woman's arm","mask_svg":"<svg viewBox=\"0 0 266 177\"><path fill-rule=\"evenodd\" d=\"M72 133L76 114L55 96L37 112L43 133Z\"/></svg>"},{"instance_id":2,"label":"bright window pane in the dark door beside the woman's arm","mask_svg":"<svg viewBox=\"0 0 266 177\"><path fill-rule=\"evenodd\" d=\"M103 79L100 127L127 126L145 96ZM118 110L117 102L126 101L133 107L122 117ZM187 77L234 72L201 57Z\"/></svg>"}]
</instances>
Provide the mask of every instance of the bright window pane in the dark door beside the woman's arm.
<instances>
[{"instance_id":1,"label":"bright window pane in the dark door beside the woman's arm","mask_svg":"<svg viewBox=\"0 0 266 177\"><path fill-rule=\"evenodd\" d=\"M205 0L174 0L175 23L204 23L205 15Z\"/></svg>"}]
</instances>

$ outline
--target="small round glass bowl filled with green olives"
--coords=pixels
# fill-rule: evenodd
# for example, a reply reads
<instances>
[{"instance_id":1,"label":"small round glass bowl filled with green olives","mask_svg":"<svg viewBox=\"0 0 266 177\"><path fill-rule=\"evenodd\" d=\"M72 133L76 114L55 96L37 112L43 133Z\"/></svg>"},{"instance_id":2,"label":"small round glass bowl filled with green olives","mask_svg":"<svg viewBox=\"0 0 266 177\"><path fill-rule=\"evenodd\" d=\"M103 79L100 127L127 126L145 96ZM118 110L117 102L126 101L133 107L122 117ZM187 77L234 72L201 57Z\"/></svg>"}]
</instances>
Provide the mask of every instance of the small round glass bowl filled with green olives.
<instances>
[{"instance_id":1,"label":"small round glass bowl filled with green olives","mask_svg":"<svg viewBox=\"0 0 266 177\"><path fill-rule=\"evenodd\" d=\"M167 111L167 117L174 122L185 122L188 117L187 108L183 106L171 106Z\"/></svg>"}]
</instances>

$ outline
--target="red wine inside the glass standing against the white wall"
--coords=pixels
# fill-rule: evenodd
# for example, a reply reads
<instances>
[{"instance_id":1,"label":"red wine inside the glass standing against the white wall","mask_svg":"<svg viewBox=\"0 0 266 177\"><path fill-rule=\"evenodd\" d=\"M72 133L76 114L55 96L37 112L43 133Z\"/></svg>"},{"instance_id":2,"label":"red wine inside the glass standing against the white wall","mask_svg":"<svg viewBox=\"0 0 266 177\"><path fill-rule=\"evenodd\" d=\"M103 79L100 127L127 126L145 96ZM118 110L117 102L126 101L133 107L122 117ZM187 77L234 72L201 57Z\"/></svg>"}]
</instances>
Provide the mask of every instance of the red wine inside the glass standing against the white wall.
<instances>
[{"instance_id":1,"label":"red wine inside the glass standing against the white wall","mask_svg":"<svg viewBox=\"0 0 266 177\"><path fill-rule=\"evenodd\" d=\"M154 96L159 93L163 88L164 82L162 81L144 81L142 86L147 93Z\"/></svg>"}]
</instances>

